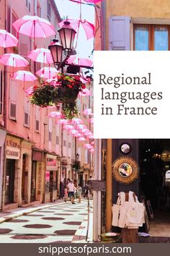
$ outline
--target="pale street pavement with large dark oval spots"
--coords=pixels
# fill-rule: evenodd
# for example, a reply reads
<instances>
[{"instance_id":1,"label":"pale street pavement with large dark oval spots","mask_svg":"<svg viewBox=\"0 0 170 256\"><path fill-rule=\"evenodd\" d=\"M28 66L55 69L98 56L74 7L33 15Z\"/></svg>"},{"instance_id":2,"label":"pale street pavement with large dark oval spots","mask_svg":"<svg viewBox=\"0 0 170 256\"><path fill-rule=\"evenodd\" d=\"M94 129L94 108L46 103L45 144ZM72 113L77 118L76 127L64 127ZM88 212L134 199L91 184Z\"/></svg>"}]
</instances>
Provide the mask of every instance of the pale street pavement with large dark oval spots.
<instances>
[{"instance_id":1,"label":"pale street pavement with large dark oval spots","mask_svg":"<svg viewBox=\"0 0 170 256\"><path fill-rule=\"evenodd\" d=\"M90 218L92 200L90 200ZM86 242L88 201L61 202L0 224L1 243ZM91 239L91 226L89 240ZM90 242L90 241L89 241Z\"/></svg>"}]
</instances>

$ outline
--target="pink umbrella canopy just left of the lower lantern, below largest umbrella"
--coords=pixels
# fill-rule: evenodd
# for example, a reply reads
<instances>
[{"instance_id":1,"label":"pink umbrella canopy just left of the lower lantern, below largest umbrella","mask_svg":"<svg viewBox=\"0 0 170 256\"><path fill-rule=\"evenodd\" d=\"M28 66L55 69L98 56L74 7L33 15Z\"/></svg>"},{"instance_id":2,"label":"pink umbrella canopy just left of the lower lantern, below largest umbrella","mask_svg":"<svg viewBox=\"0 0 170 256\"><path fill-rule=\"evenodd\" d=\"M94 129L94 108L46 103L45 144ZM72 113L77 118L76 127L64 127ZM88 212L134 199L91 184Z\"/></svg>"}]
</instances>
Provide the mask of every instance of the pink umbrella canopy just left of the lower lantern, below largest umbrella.
<instances>
[{"instance_id":1,"label":"pink umbrella canopy just left of the lower lantern, below largest umbrella","mask_svg":"<svg viewBox=\"0 0 170 256\"><path fill-rule=\"evenodd\" d=\"M50 54L50 50L45 48L37 48L34 51L31 51L28 54L28 58L32 59L32 61L37 61L45 64L53 63L53 58Z\"/></svg>"}]
</instances>

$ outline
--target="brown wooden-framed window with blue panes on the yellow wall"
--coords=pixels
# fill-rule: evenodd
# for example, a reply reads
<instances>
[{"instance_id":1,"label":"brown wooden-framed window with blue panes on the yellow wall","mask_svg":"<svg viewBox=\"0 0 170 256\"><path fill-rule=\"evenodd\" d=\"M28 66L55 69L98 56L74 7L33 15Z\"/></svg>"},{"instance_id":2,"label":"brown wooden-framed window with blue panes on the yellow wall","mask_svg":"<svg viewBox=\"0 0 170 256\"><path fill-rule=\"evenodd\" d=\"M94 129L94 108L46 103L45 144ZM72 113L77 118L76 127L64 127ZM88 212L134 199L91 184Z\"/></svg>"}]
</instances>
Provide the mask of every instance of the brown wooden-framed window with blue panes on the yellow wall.
<instances>
[{"instance_id":1,"label":"brown wooden-framed window with blue panes on the yellow wall","mask_svg":"<svg viewBox=\"0 0 170 256\"><path fill-rule=\"evenodd\" d=\"M170 50L169 25L134 25L134 50L168 51Z\"/></svg>"}]
</instances>

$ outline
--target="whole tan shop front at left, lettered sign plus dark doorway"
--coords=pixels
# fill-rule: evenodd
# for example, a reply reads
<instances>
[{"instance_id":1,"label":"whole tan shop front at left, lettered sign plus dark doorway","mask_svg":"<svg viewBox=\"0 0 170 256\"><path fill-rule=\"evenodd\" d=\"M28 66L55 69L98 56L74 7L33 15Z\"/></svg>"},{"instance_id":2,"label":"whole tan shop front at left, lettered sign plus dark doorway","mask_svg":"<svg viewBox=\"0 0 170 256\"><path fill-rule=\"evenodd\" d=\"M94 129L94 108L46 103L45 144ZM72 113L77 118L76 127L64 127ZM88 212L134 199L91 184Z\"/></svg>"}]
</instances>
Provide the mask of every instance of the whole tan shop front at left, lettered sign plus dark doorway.
<instances>
[{"instance_id":1,"label":"whole tan shop front at left, lettered sign plus dark doorway","mask_svg":"<svg viewBox=\"0 0 170 256\"><path fill-rule=\"evenodd\" d=\"M19 203L19 158L20 140L6 136L6 171L4 203Z\"/></svg>"}]
</instances>

